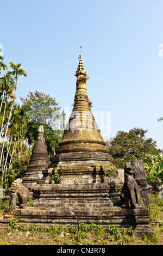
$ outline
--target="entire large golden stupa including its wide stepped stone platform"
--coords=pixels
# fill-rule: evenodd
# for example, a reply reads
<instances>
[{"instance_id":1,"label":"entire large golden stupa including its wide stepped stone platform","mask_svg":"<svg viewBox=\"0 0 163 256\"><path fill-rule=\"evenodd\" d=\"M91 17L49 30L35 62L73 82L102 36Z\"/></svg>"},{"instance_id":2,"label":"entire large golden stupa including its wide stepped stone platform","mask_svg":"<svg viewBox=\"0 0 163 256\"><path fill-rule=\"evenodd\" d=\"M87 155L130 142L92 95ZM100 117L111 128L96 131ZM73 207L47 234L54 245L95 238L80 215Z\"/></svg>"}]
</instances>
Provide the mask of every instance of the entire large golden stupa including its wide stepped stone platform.
<instances>
[{"instance_id":1,"label":"entire large golden stupa including its wide stepped stone platform","mask_svg":"<svg viewBox=\"0 0 163 256\"><path fill-rule=\"evenodd\" d=\"M134 188L129 187L128 190L135 200L134 209L131 206L122 207L121 198L126 198L129 175L133 175L134 171L129 169L129 174L126 174L128 180L123 186L124 182L119 178L118 170L112 166L109 150L92 115L86 92L86 76L80 54L74 107L59 148L51 157L48 168L42 170L43 176L37 180L37 184L30 186L34 207L20 209L17 206L15 216L20 224L27 225L41 224L47 227L56 223L70 227L79 222L93 222L106 227L114 224L122 229L133 227L137 234L149 234L149 209L135 203ZM43 133L38 136L43 136ZM48 164L48 159L45 162ZM139 182L142 192L147 195L146 179L142 175L144 170L140 171L139 165L135 169L135 182ZM140 194L139 188L136 187L136 190Z\"/></svg>"}]
</instances>

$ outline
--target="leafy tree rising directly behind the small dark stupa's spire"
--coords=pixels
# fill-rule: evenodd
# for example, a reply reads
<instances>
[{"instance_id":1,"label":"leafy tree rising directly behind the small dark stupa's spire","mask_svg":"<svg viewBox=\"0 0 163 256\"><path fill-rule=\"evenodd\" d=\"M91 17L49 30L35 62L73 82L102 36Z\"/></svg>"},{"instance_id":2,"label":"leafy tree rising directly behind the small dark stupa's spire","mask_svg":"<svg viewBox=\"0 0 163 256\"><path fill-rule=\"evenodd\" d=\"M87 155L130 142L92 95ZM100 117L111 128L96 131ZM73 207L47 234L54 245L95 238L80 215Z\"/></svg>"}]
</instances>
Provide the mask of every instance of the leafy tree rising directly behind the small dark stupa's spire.
<instances>
[{"instance_id":1,"label":"leafy tree rising directly behind the small dark stupa's spire","mask_svg":"<svg viewBox=\"0 0 163 256\"><path fill-rule=\"evenodd\" d=\"M53 121L55 120L55 113L60 112L60 107L58 103L55 101L54 97L50 97L49 95L42 92L29 92L27 97L21 98L23 102L23 107L27 109L30 120L27 125L27 132L25 134L28 139L28 144L32 147L35 144L37 138L37 120L40 117L42 112L43 117L45 118L45 126L44 126L44 136L45 142L47 145L47 151L49 156L54 154L54 150L58 148L58 143L62 136L61 130L53 130ZM64 113L62 113L64 115Z\"/></svg>"}]
</instances>

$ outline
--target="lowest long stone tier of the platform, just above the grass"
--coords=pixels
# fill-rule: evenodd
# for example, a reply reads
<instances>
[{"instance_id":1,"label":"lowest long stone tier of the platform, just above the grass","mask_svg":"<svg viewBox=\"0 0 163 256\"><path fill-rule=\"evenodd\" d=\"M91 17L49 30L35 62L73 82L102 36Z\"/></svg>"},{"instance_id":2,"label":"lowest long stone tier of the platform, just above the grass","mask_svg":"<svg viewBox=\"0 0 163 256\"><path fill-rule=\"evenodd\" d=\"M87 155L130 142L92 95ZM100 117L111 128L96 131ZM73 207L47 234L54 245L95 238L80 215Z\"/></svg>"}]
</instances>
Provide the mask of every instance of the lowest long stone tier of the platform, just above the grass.
<instances>
[{"instance_id":1,"label":"lowest long stone tier of the platform, just above the grass","mask_svg":"<svg viewBox=\"0 0 163 256\"><path fill-rule=\"evenodd\" d=\"M131 212L115 206L105 209L51 207L48 209L35 207L19 209L16 207L15 216L19 224L41 224L45 227L50 227L54 223L70 227L70 225L76 225L79 222L96 223L103 226L115 224L121 228L134 226L134 216L131 215Z\"/></svg>"}]
</instances>

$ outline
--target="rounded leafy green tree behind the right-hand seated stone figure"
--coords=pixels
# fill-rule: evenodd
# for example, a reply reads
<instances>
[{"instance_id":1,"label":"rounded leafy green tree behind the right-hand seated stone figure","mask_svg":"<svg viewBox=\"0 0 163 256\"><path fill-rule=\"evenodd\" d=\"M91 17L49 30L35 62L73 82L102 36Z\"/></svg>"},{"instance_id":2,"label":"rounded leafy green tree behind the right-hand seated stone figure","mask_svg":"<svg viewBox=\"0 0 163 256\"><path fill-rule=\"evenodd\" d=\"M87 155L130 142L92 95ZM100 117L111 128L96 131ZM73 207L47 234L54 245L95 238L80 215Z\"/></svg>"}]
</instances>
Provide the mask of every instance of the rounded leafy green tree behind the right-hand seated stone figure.
<instances>
[{"instance_id":1,"label":"rounded leafy green tree behind the right-hand seated stone figure","mask_svg":"<svg viewBox=\"0 0 163 256\"><path fill-rule=\"evenodd\" d=\"M124 162L133 161L132 155L137 160L142 159L143 162L147 162L146 153L153 154L152 145L156 147L156 142L152 138L146 138L147 131L139 127L129 132L118 131L114 138L106 142L106 147L113 159L112 162L117 168L123 168Z\"/></svg>"}]
</instances>

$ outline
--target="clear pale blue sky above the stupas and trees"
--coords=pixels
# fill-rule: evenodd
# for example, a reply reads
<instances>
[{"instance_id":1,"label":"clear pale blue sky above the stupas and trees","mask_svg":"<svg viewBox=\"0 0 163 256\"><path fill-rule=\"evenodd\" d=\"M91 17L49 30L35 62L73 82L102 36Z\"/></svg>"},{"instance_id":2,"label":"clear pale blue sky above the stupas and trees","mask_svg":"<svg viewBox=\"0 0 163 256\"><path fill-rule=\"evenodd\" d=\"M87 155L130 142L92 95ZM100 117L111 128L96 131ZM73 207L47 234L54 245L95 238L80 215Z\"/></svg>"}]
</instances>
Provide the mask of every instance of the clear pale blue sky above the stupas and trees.
<instances>
[{"instance_id":1,"label":"clear pale blue sky above the stupas and trees","mask_svg":"<svg viewBox=\"0 0 163 256\"><path fill-rule=\"evenodd\" d=\"M92 112L111 113L108 138L140 127L163 149L162 0L1 0L0 13L4 62L28 73L17 103L36 89L72 108L82 45Z\"/></svg>"}]
</instances>

